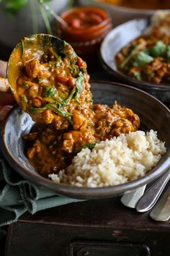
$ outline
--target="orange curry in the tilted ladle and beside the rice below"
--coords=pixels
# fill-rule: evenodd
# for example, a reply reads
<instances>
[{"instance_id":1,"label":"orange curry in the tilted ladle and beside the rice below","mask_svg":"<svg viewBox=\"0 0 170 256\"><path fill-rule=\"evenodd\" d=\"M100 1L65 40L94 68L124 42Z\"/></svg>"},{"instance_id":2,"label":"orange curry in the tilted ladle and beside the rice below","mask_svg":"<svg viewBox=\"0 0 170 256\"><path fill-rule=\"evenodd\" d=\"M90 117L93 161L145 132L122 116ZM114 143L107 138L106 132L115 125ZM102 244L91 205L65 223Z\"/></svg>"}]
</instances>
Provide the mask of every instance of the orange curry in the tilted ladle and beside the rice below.
<instances>
[{"instance_id":1,"label":"orange curry in the tilted ladle and beside the rice below","mask_svg":"<svg viewBox=\"0 0 170 256\"><path fill-rule=\"evenodd\" d=\"M53 37L52 37L53 38ZM81 148L93 148L96 142L138 129L140 120L132 110L115 103L112 107L92 103L86 63L73 48L58 41L38 46L37 38L23 40L9 65L14 67L15 97L37 123L30 134L27 157L42 175L58 173L71 163ZM20 54L19 54L20 51Z\"/></svg>"}]
</instances>

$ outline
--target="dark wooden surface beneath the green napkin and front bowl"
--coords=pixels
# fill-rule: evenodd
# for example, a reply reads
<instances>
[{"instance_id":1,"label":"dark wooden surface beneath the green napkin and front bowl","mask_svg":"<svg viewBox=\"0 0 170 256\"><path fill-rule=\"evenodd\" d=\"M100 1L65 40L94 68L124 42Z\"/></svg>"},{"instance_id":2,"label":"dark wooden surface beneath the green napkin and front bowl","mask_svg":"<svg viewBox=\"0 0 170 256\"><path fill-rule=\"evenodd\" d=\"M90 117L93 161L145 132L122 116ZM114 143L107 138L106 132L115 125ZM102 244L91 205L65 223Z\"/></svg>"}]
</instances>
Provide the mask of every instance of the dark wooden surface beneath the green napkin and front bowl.
<instances>
[{"instance_id":1,"label":"dark wooden surface beneath the green napkin and front bowl","mask_svg":"<svg viewBox=\"0 0 170 256\"><path fill-rule=\"evenodd\" d=\"M9 226L5 256L168 256L169 237L170 221L153 221L114 197L25 213Z\"/></svg>"}]
</instances>

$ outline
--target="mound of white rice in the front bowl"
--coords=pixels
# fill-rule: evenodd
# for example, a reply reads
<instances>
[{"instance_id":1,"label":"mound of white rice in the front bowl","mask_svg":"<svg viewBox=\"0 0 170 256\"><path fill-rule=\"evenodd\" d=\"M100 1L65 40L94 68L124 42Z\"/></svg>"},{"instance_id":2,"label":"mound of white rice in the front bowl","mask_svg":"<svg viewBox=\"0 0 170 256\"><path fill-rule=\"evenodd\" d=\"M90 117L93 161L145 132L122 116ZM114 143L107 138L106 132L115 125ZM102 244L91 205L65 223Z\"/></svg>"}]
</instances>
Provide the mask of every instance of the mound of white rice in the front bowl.
<instances>
[{"instance_id":1,"label":"mound of white rice in the front bowl","mask_svg":"<svg viewBox=\"0 0 170 256\"><path fill-rule=\"evenodd\" d=\"M84 148L66 170L49 174L55 183L77 187L106 187L133 181L156 166L166 153L157 132L130 132Z\"/></svg>"}]
</instances>

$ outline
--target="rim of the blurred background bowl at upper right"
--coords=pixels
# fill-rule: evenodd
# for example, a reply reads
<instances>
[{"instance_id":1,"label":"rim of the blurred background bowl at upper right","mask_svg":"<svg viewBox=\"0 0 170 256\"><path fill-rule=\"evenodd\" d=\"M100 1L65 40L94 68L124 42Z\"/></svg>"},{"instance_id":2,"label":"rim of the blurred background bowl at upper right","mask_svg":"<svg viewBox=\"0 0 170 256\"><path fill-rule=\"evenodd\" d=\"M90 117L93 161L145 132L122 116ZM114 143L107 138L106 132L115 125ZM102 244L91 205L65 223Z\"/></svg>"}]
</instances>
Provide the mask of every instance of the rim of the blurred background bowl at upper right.
<instances>
[{"instance_id":1,"label":"rim of the blurred background bowl at upper right","mask_svg":"<svg viewBox=\"0 0 170 256\"><path fill-rule=\"evenodd\" d=\"M138 80L133 79L132 77L128 77L128 75L123 74L119 70L113 69L112 67L110 67L109 64L107 64L107 61L105 61L105 59L103 57L104 47L105 47L105 43L107 41L107 38L109 38L112 34L116 34L117 30L120 30L120 27L123 27L124 25L127 25L128 23L136 22L136 21L138 21L138 22L143 22L143 21L148 22L148 18L129 20L127 22L123 22L122 24L120 24L117 27L110 30L109 33L105 36L104 40L102 40L101 46L99 48L99 59L102 61L102 65L103 65L104 69L107 70L107 72L109 72L113 76L120 79L122 82L130 82L131 85L133 85L133 86L138 86L140 88L146 88L148 90L153 90L154 89L154 90L160 90L160 91L170 91L170 84L167 84L167 83L156 84L154 82L138 81ZM113 61L115 62L114 58L113 58ZM116 66L116 64L115 64L115 66Z\"/></svg>"}]
</instances>

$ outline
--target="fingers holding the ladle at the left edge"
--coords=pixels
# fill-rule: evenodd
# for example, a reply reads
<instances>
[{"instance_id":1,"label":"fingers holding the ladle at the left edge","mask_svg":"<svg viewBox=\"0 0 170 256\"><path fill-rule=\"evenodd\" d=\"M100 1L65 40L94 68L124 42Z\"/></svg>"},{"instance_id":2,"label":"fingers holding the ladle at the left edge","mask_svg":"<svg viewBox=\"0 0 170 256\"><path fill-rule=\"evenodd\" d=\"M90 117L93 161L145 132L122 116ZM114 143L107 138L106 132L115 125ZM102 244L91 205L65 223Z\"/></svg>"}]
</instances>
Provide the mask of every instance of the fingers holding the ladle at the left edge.
<instances>
[{"instance_id":1,"label":"fingers holding the ladle at the left edge","mask_svg":"<svg viewBox=\"0 0 170 256\"><path fill-rule=\"evenodd\" d=\"M0 60L0 77L6 77L6 61ZM0 88L4 85L4 81L0 80ZM9 110L12 108L12 105L14 104L14 96L9 93L2 93L0 91L0 121L4 119L6 114L9 112Z\"/></svg>"}]
</instances>

